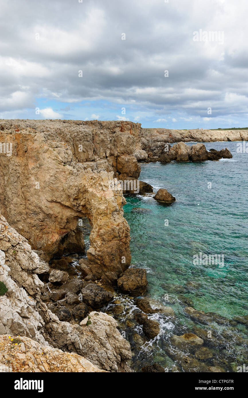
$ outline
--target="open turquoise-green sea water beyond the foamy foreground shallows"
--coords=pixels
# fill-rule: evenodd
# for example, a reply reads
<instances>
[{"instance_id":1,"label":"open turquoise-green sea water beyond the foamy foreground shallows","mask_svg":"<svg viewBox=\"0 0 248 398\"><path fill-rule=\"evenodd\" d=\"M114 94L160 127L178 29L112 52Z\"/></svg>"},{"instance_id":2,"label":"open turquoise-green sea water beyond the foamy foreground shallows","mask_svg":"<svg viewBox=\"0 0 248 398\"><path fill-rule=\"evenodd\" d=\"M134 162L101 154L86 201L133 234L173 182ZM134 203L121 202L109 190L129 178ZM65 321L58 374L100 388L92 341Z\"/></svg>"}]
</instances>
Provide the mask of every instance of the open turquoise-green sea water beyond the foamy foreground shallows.
<instances>
[{"instance_id":1,"label":"open turquoise-green sea water beyond the foamy foreground shallows","mask_svg":"<svg viewBox=\"0 0 248 398\"><path fill-rule=\"evenodd\" d=\"M152 197L126 196L132 264L147 269L148 295L161 302L174 285L185 287L193 281L197 289L183 294L197 310L227 318L247 315L248 154L236 152L237 142L205 146L227 147L233 158L142 164L140 179L154 192L167 189L176 201L164 205ZM137 213L134 207L150 211ZM194 265L193 256L200 252L224 255L224 266ZM177 312L182 312L179 307Z\"/></svg>"}]
</instances>

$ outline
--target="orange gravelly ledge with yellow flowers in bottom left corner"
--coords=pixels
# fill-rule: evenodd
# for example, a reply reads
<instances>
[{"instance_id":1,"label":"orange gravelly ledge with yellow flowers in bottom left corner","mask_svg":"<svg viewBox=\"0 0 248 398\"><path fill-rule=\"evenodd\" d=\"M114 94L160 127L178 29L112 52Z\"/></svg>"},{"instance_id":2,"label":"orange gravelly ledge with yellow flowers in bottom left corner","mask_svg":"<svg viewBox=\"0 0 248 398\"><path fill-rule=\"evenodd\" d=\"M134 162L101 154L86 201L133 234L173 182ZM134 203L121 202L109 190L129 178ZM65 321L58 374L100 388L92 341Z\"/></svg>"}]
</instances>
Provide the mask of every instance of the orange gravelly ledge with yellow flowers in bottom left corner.
<instances>
[{"instance_id":1,"label":"orange gravelly ledge with yellow flowers in bottom left corner","mask_svg":"<svg viewBox=\"0 0 248 398\"><path fill-rule=\"evenodd\" d=\"M6 334L0 336L0 369L35 373L105 372L81 355L41 345L28 337L12 337Z\"/></svg>"}]
</instances>

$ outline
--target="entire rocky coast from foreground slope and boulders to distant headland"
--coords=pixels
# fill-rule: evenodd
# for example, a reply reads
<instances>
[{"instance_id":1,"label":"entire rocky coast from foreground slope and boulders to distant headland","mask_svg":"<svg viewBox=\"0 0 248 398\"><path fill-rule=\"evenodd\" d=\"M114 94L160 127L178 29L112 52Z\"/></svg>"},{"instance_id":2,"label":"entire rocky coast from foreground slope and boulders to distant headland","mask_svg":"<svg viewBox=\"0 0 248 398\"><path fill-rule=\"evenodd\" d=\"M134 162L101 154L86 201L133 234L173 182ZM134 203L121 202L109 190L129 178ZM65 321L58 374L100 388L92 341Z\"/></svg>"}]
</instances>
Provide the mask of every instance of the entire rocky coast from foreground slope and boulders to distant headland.
<instances>
[{"instance_id":1,"label":"entire rocky coast from foreground slope and boulders to distant headland","mask_svg":"<svg viewBox=\"0 0 248 398\"><path fill-rule=\"evenodd\" d=\"M241 132L240 139L247 139L247 131ZM156 363L137 365L141 347L158 342L159 319L174 323L177 332L159 342L173 361L168 371L233 371L229 364L245 353L218 358L217 349L226 349L233 339L247 347L248 320L205 314L181 295L189 319L208 325L207 331L193 325L184 330L169 301L167 306L144 297L146 270L129 267L123 194L153 193L151 185L138 180L139 162L232 158L227 149L207 151L201 143L183 141L234 140L237 134L142 129L132 122L1 120L0 142L11 144L12 154L0 154L0 344L6 349L0 364L10 363L8 337L19 336L17 357L31 339L51 351L53 362L52 348L73 353L74 362L71 370L63 370L63 355L56 352L61 367L51 370L51 364L41 365L42 348L32 345L32 366L25 357L23 367L13 362L15 371L164 372ZM166 189L159 191L154 199L175 200ZM84 219L91 225L86 255ZM220 338L215 324L234 329ZM240 325L242 337L236 330Z\"/></svg>"}]
</instances>

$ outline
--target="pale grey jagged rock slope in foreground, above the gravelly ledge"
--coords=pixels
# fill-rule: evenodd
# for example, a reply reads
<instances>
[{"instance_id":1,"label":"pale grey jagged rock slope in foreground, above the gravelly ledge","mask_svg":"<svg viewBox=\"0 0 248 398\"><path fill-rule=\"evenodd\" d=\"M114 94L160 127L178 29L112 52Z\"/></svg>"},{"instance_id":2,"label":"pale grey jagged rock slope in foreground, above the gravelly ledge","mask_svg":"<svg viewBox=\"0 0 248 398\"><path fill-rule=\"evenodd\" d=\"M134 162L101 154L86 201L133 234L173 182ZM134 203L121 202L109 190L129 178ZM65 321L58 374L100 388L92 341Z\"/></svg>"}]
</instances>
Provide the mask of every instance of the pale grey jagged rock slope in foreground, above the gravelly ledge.
<instances>
[{"instance_id":1,"label":"pale grey jagged rock slope in foreground, above the gravelly ledge","mask_svg":"<svg viewBox=\"0 0 248 398\"><path fill-rule=\"evenodd\" d=\"M106 371L124 370L131 350L114 318L93 311L88 326L59 321L41 301L43 283L35 273L40 267L27 240L0 215L0 282L8 289L0 295L0 335L20 335L48 349L72 351Z\"/></svg>"}]
</instances>

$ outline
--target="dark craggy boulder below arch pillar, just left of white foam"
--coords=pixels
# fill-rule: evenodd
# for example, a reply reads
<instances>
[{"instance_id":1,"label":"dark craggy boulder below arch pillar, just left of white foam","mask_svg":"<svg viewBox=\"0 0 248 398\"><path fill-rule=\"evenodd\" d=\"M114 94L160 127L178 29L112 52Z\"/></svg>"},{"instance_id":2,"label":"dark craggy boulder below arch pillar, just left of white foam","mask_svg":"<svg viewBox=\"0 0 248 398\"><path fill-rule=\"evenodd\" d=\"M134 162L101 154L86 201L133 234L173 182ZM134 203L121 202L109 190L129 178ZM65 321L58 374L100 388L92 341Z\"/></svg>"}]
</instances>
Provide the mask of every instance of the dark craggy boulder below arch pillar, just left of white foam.
<instances>
[{"instance_id":1,"label":"dark craggy boulder below arch pillar, just left of white foam","mask_svg":"<svg viewBox=\"0 0 248 398\"><path fill-rule=\"evenodd\" d=\"M92 308L101 308L113 300L114 295L103 289L103 287L96 285L96 283L89 283L81 290L83 302Z\"/></svg>"}]
</instances>

